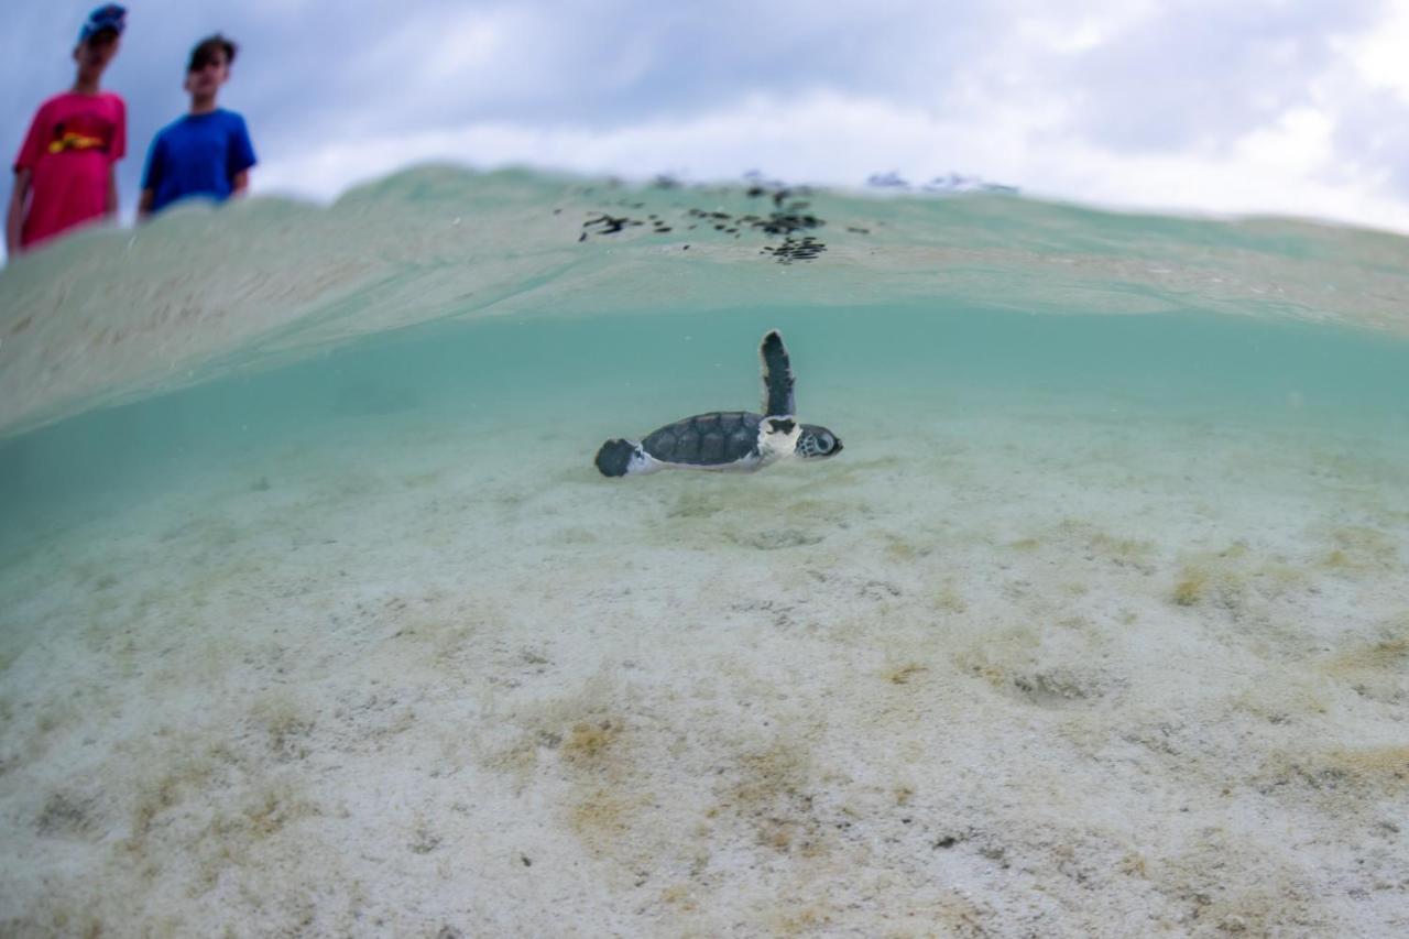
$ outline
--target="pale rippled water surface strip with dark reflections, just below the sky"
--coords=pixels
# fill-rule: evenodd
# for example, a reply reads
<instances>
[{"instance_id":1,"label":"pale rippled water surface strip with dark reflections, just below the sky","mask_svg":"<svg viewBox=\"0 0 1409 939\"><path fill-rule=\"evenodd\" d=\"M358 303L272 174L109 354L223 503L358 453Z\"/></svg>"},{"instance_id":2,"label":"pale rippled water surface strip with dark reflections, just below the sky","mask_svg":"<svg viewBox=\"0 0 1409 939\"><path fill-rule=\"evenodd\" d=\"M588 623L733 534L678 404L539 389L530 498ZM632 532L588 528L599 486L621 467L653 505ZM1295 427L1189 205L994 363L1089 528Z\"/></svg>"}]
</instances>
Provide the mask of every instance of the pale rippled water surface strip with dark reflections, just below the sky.
<instances>
[{"instance_id":1,"label":"pale rippled water surface strip with dark reflections, just below the sky","mask_svg":"<svg viewBox=\"0 0 1409 939\"><path fill-rule=\"evenodd\" d=\"M0 274L0 436L442 319L923 299L1409 333L1396 235L943 182L974 192L421 166L328 207L252 199L83 233Z\"/></svg>"}]
</instances>

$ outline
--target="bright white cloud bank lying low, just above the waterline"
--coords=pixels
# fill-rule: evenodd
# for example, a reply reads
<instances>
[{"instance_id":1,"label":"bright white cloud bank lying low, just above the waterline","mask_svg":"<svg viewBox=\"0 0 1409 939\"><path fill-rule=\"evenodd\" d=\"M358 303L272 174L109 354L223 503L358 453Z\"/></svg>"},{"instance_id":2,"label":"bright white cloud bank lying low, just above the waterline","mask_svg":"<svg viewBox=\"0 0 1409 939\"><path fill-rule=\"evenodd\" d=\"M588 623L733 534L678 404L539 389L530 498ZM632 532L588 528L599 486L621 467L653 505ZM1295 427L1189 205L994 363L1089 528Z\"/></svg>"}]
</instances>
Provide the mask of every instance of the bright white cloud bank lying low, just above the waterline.
<instances>
[{"instance_id":1,"label":"bright white cloud bank lying low, just above the waterline","mask_svg":"<svg viewBox=\"0 0 1409 939\"><path fill-rule=\"evenodd\" d=\"M328 142L265 168L273 190L331 199L407 162L479 168L534 165L579 173L648 178L668 171L693 180L740 179L758 169L790 180L859 185L876 171L924 182L960 172L1022 180L1033 195L1112 207L1181 206L1213 214L1277 213L1360 219L1406 227L1402 203L1374 178L1332 178L1334 125L1315 109L1250 131L1220 152L1198 148L1130 155L1079 134L1034 131L1037 116L1010 107L962 118L885 99L814 93L802 100L751 96L683 120L623 128L542 128L507 123L458 131ZM1033 142L1041 137L1041 145ZM881 162L885 161L885 162ZM310 190L307 180L318 180Z\"/></svg>"}]
</instances>

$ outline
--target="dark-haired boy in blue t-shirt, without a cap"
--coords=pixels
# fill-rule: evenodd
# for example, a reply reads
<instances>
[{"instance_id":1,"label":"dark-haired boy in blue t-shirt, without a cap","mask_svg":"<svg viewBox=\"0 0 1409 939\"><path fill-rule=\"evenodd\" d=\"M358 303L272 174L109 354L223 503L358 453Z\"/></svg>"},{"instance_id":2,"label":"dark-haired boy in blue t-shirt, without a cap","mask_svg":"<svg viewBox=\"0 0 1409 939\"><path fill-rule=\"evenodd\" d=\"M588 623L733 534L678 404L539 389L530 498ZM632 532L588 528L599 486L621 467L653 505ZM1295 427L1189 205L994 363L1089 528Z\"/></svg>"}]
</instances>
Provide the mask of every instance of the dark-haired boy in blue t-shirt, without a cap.
<instances>
[{"instance_id":1,"label":"dark-haired boy in blue t-shirt, without a cap","mask_svg":"<svg viewBox=\"0 0 1409 939\"><path fill-rule=\"evenodd\" d=\"M235 44L218 32L192 49L185 85L190 113L163 127L152 141L137 204L139 217L189 196L224 202L249 186L255 149L245 118L216 106L234 61Z\"/></svg>"}]
</instances>

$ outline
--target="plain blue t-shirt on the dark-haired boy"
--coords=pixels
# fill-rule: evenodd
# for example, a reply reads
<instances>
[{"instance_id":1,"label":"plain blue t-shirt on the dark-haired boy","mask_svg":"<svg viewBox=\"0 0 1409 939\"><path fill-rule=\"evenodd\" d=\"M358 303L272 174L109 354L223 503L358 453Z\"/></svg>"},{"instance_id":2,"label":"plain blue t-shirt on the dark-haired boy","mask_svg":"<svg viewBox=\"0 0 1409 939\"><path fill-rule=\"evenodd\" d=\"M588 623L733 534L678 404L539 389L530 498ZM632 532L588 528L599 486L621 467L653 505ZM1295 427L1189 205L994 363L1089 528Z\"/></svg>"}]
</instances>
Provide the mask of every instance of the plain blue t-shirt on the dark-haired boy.
<instances>
[{"instance_id":1,"label":"plain blue t-shirt on the dark-haired boy","mask_svg":"<svg viewBox=\"0 0 1409 939\"><path fill-rule=\"evenodd\" d=\"M155 193L152 211L187 196L223 202L230 197L235 173L254 165L255 148L245 118L224 109L187 114L156 134L147 152L142 189Z\"/></svg>"}]
</instances>

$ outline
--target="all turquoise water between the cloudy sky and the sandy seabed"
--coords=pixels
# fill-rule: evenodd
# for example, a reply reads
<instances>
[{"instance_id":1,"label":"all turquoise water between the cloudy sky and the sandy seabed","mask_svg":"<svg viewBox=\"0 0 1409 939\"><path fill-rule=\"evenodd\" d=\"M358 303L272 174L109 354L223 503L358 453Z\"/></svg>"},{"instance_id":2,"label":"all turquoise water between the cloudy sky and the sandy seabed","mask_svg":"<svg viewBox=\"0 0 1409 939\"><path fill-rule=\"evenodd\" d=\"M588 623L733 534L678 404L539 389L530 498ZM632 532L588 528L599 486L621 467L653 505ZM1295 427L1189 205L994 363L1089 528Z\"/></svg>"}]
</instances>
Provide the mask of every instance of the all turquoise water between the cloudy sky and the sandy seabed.
<instances>
[{"instance_id":1,"label":"all turquoise water between the cloudy sky and the sandy seabed","mask_svg":"<svg viewBox=\"0 0 1409 939\"><path fill-rule=\"evenodd\" d=\"M802 238L823 248L771 254ZM23 544L121 485L159 493L156 467L359 412L541 423L589 465L603 434L757 409L774 326L807 419L837 399L926 415L1069 399L1398 440L1406 258L1395 235L1295 221L523 172L413 171L333 210L197 210L6 272L6 515L35 519ZM248 334L204 337L251 307Z\"/></svg>"}]
</instances>

